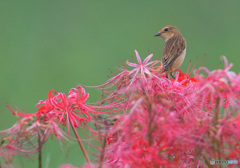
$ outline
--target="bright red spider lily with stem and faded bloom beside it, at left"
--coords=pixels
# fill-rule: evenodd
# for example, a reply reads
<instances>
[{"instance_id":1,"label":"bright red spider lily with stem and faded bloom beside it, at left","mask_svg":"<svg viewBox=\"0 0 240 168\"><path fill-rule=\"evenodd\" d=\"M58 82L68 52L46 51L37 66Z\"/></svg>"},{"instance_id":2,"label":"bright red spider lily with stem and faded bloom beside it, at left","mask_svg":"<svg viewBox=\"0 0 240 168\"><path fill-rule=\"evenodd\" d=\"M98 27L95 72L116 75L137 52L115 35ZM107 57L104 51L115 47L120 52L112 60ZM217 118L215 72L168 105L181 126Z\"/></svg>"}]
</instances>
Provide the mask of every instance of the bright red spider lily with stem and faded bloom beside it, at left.
<instances>
[{"instance_id":1,"label":"bright red spider lily with stem and faded bloom beside it, at left","mask_svg":"<svg viewBox=\"0 0 240 168\"><path fill-rule=\"evenodd\" d=\"M15 111L8 106L8 109L14 115L23 117L23 119L20 119L12 128L0 132L0 135L3 135L2 142L4 142L4 145L0 147L0 155L6 156L5 153L10 149L12 156L16 152L20 152L20 154L35 153L52 133L58 139L67 140L67 137L70 136L70 127L72 127L79 145L86 155L86 160L89 161L75 129L79 126L84 127L86 123L91 121L92 115L101 114L101 112L95 110L99 107L86 104L88 97L89 94L81 86L77 86L77 88L72 88L68 95L57 93L52 89L48 93L48 99L37 103L36 106L39 108L35 113ZM33 117L36 117L36 119ZM60 124L63 127L67 126L67 134L60 128ZM36 139L38 139L38 142L36 142Z\"/></svg>"}]
</instances>

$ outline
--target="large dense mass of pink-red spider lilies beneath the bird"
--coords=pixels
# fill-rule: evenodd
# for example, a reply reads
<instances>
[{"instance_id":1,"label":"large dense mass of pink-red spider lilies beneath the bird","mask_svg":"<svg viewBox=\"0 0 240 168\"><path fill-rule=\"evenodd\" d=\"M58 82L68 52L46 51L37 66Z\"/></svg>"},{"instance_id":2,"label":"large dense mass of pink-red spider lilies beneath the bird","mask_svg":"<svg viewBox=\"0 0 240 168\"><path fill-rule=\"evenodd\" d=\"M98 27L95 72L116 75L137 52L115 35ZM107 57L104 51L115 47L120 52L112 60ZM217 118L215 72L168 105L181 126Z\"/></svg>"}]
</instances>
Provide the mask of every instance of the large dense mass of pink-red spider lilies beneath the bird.
<instances>
[{"instance_id":1,"label":"large dense mass of pink-red spider lilies beneath the bird","mask_svg":"<svg viewBox=\"0 0 240 168\"><path fill-rule=\"evenodd\" d=\"M205 167L217 156L227 159L229 155L225 151L232 151L231 156L239 159L236 157L238 148L231 147L231 144L239 146L235 143L239 128L223 122L234 119L233 114L227 119L219 113L220 108L234 113L229 107L236 109L239 105L237 83L240 78L229 71L231 64L225 59L223 70L205 69L207 77L200 73L189 77L178 70L175 79L169 80L150 69L141 69L141 59L138 53L136 55L139 65L128 63L136 67L128 74L130 77L112 78L119 80L112 83L117 86L112 93L118 94L112 94L111 99L117 96L121 100L123 96L127 101L122 103L127 104L128 110L107 133L103 165ZM125 72L128 71L125 69ZM236 136L232 137L233 132L227 134L230 128L236 130ZM218 145L213 146L216 143ZM219 149L224 150L220 152Z\"/></svg>"}]
</instances>

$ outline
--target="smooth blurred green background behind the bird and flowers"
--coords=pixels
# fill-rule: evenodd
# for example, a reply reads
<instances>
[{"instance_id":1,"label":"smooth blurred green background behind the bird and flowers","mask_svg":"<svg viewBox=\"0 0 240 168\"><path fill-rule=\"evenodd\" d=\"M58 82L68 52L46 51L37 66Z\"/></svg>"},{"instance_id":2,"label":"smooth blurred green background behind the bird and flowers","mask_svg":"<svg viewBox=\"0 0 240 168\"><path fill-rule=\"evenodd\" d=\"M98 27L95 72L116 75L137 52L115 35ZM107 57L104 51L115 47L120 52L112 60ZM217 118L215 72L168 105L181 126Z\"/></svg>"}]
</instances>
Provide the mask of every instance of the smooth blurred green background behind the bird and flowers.
<instances>
[{"instance_id":1,"label":"smooth blurred green background behind the bird and flowers","mask_svg":"<svg viewBox=\"0 0 240 168\"><path fill-rule=\"evenodd\" d=\"M118 72L137 49L142 58L161 57L164 41L153 37L167 25L187 40L181 69L199 57L210 70L223 67L226 55L240 66L240 1L238 0L1 0L0 1L0 130L16 121L6 104L35 112L36 103L54 88L67 93L77 84L99 85ZM100 92L86 88L89 103ZM43 165L80 166L85 161L76 144L62 152L56 140L43 148ZM16 157L16 167L37 167L37 160Z\"/></svg>"}]
</instances>

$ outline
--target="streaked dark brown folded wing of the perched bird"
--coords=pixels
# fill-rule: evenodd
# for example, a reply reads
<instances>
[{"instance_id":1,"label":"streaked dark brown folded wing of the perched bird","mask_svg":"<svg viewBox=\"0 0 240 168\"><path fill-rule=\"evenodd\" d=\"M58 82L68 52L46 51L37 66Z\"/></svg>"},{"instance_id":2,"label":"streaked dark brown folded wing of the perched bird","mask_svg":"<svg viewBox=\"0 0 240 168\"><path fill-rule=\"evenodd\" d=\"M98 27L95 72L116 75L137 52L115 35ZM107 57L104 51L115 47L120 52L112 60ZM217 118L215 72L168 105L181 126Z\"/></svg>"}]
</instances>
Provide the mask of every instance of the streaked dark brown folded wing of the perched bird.
<instances>
[{"instance_id":1,"label":"streaked dark brown folded wing of the perched bird","mask_svg":"<svg viewBox=\"0 0 240 168\"><path fill-rule=\"evenodd\" d=\"M164 71L168 70L185 48L186 42L182 36L172 37L166 41L162 54L162 65L165 67Z\"/></svg>"}]
</instances>

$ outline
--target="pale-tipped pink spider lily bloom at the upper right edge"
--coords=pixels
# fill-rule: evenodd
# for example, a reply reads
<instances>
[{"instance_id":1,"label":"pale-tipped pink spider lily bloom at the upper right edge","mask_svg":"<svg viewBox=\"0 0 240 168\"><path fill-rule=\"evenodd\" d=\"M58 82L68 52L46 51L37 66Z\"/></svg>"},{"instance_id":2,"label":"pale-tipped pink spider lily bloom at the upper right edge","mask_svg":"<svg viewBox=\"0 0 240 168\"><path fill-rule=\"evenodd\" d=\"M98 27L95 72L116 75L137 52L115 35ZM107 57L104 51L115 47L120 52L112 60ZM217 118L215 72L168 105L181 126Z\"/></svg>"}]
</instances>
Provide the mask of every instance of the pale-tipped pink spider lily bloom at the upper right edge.
<instances>
[{"instance_id":1,"label":"pale-tipped pink spider lily bloom at the upper right edge","mask_svg":"<svg viewBox=\"0 0 240 168\"><path fill-rule=\"evenodd\" d=\"M195 92L192 101L200 101L199 105L211 110L216 106L216 100L219 100L220 106L225 109L231 106L236 109L239 105L239 87L236 87L236 83L239 82L239 78L234 72L229 71L232 64L228 65L225 57L225 67L223 70L209 71L206 68L201 68L207 73L207 77L203 75L196 75L198 88ZM198 100L197 100L198 99Z\"/></svg>"}]
</instances>

